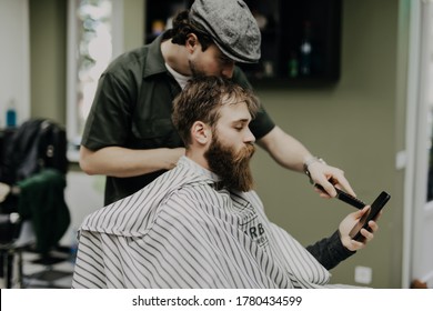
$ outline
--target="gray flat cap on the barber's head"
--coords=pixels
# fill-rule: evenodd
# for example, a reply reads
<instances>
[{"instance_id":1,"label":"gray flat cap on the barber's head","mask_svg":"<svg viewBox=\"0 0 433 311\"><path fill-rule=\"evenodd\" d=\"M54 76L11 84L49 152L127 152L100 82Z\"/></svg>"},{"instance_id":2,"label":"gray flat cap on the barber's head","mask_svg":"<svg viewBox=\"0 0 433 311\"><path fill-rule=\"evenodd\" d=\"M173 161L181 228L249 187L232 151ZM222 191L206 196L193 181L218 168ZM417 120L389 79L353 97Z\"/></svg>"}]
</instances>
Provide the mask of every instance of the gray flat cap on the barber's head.
<instances>
[{"instance_id":1,"label":"gray flat cap on the barber's head","mask_svg":"<svg viewBox=\"0 0 433 311\"><path fill-rule=\"evenodd\" d=\"M258 62L259 26L242 0L195 0L190 20L205 30L220 50L238 62Z\"/></svg>"}]
</instances>

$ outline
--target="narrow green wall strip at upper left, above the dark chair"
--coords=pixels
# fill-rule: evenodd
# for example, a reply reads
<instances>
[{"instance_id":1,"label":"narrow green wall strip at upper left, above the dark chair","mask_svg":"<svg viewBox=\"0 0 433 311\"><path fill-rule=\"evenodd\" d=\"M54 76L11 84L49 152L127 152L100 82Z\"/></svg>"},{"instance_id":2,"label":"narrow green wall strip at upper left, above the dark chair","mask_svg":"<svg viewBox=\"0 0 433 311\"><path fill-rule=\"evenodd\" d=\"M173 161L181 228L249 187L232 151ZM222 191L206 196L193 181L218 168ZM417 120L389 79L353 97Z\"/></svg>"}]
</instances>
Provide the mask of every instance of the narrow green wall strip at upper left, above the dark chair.
<instances>
[{"instance_id":1,"label":"narrow green wall strip at upper left, above the dark chair","mask_svg":"<svg viewBox=\"0 0 433 311\"><path fill-rule=\"evenodd\" d=\"M29 0L30 116L66 123L67 3Z\"/></svg>"}]
</instances>

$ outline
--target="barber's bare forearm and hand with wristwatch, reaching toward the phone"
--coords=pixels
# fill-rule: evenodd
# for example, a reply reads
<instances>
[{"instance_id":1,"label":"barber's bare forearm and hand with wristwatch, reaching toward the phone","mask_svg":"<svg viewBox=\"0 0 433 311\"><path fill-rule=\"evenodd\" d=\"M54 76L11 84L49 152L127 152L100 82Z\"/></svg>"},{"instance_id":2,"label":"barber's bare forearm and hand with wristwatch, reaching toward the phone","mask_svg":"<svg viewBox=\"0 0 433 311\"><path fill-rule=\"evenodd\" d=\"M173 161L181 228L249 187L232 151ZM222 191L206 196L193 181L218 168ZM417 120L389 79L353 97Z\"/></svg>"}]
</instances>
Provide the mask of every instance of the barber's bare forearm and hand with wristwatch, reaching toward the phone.
<instances>
[{"instance_id":1,"label":"barber's bare forearm and hand with wristwatch, reaching toward the phone","mask_svg":"<svg viewBox=\"0 0 433 311\"><path fill-rule=\"evenodd\" d=\"M258 143L280 165L299 172L303 172L306 169L312 182L321 184L331 197L336 195L334 185L339 185L339 188L344 189L351 195L355 195L342 170L328 165L323 160L313 157L300 141L285 133L279 127L274 127ZM331 179L334 185L329 182ZM324 192L321 192L320 195L323 198L330 197Z\"/></svg>"}]
</instances>

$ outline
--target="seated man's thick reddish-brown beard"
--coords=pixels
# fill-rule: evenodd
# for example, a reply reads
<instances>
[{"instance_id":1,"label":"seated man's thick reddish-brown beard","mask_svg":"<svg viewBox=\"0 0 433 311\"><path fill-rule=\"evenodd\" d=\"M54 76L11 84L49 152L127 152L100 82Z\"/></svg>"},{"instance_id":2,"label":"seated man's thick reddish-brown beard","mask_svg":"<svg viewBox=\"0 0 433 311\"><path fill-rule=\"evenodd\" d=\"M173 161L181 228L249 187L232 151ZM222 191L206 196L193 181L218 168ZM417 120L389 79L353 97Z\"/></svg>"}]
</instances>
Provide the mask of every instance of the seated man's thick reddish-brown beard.
<instances>
[{"instance_id":1,"label":"seated man's thick reddish-brown beard","mask_svg":"<svg viewBox=\"0 0 433 311\"><path fill-rule=\"evenodd\" d=\"M234 152L232 148L222 146L215 137L204 157L211 171L221 178L223 187L246 192L254 184L250 169L250 159L254 151L253 144L246 144L239 152Z\"/></svg>"}]
</instances>

